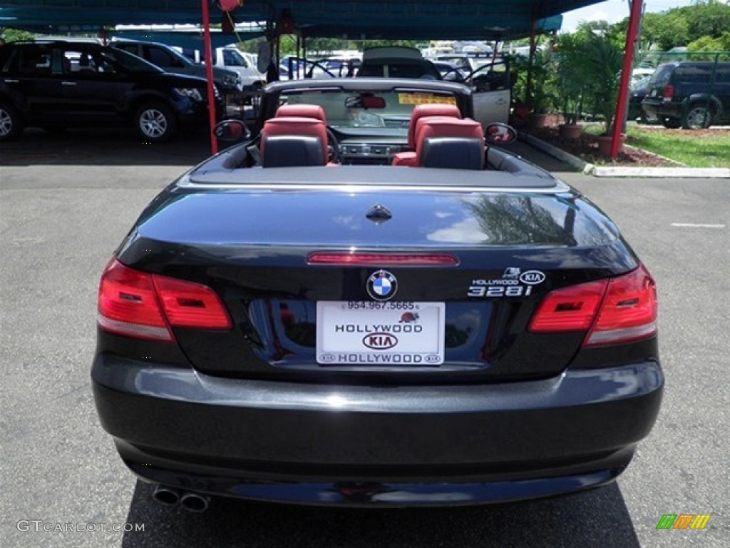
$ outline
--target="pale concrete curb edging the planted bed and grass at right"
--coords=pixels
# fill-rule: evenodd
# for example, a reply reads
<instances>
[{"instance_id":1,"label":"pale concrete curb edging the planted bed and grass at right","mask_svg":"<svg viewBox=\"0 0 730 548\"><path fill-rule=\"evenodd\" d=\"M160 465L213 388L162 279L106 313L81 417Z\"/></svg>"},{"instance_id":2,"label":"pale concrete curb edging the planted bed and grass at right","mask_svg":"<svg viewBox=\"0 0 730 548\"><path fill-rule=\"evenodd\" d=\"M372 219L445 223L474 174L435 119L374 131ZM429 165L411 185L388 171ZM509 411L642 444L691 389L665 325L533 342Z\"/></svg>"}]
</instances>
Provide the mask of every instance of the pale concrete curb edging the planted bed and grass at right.
<instances>
[{"instance_id":1,"label":"pale concrete curb edging the planted bed and grass at right","mask_svg":"<svg viewBox=\"0 0 730 548\"><path fill-rule=\"evenodd\" d=\"M539 140L527 133L520 134L520 139L553 158L564 161L576 170L593 175L593 177L664 177L664 178L722 178L730 179L729 167L625 167L596 166L573 156L560 148Z\"/></svg>"}]
</instances>

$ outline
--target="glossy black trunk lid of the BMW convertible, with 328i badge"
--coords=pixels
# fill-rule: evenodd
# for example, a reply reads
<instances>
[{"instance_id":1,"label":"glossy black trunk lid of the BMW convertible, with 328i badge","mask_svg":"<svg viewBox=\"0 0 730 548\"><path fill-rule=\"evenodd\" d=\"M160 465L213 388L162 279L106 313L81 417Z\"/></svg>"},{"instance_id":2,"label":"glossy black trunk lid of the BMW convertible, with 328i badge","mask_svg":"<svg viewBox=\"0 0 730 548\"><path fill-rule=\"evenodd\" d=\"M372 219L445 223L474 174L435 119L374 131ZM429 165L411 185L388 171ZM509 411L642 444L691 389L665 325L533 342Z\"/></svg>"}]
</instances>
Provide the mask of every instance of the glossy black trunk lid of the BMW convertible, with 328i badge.
<instances>
[{"instance_id":1,"label":"glossy black trunk lid of the BMW convertible, with 328i badge","mask_svg":"<svg viewBox=\"0 0 730 548\"><path fill-rule=\"evenodd\" d=\"M636 266L582 197L467 189L174 191L119 259L220 296L232 330L173 330L205 373L383 383L554 375L585 332L529 332L542 298Z\"/></svg>"}]
</instances>

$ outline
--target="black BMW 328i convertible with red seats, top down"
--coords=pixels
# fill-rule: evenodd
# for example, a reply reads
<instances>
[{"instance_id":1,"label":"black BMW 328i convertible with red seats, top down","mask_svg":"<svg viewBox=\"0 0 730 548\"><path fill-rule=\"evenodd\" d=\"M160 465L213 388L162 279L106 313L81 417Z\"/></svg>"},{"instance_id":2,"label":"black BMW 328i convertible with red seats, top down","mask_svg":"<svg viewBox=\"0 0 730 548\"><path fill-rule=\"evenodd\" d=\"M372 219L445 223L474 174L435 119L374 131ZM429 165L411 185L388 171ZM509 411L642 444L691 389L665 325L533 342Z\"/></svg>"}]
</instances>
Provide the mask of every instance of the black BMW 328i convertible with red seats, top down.
<instances>
[{"instance_id":1,"label":"black BMW 328i convertible with red seats, top down","mask_svg":"<svg viewBox=\"0 0 730 548\"><path fill-rule=\"evenodd\" d=\"M442 81L272 83L253 137L218 124L242 140L145 208L91 376L155 499L519 501L629 465L664 386L655 283L472 114Z\"/></svg>"}]
</instances>

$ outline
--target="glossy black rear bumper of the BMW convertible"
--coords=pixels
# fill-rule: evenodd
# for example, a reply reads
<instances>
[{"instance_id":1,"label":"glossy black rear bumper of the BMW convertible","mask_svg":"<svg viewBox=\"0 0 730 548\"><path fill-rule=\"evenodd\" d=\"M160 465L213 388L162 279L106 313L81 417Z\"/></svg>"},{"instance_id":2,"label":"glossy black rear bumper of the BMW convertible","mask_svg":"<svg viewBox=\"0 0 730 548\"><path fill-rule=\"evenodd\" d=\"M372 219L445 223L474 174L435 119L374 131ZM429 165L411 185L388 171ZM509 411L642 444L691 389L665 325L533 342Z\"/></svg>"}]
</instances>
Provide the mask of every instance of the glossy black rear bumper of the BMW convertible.
<instances>
[{"instance_id":1,"label":"glossy black rear bumper of the BMW convertible","mask_svg":"<svg viewBox=\"0 0 730 548\"><path fill-rule=\"evenodd\" d=\"M545 381L348 387L205 376L101 354L104 428L172 487L314 504L513 501L610 482L658 414L656 362Z\"/></svg>"}]
</instances>

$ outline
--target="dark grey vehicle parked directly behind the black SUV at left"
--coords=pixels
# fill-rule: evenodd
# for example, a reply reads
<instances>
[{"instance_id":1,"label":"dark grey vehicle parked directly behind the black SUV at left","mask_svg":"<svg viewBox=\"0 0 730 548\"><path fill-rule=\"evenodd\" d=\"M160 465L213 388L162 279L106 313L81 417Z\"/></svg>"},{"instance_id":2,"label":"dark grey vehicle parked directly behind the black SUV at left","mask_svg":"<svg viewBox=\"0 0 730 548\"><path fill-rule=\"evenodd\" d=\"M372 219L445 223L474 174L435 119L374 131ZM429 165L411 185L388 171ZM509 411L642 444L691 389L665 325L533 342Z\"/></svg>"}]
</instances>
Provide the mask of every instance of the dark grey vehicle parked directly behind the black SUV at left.
<instances>
[{"instance_id":1,"label":"dark grey vehicle parked directly behind the black SUV at left","mask_svg":"<svg viewBox=\"0 0 730 548\"><path fill-rule=\"evenodd\" d=\"M110 42L112 47L136 55L159 66L166 72L174 72L180 75L197 76L207 79L207 69L204 64L195 63L184 56L172 46L159 44L158 42L145 42L144 40L130 40L113 38ZM243 80L238 72L213 66L213 81L220 88L221 94L226 97L237 99L243 91Z\"/></svg>"}]
</instances>

